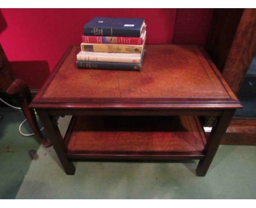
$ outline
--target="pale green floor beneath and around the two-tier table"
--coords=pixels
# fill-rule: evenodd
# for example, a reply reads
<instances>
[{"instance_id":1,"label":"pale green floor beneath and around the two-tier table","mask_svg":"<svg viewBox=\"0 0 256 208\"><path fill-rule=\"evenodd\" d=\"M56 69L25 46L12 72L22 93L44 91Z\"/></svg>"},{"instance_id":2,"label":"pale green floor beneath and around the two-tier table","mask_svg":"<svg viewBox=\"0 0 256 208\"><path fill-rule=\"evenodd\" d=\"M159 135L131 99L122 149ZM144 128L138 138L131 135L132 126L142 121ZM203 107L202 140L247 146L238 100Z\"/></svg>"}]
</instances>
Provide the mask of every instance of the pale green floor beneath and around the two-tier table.
<instances>
[{"instance_id":1,"label":"pale green floor beneath and around the two-tier table","mask_svg":"<svg viewBox=\"0 0 256 208\"><path fill-rule=\"evenodd\" d=\"M2 111L2 113L1 113ZM226 199L256 198L256 146L220 146L205 177L197 161L183 163L77 162L66 175L52 148L22 137L17 111L0 111L0 198ZM62 133L68 117L60 120ZM14 152L7 152L10 146ZM28 150L38 149L31 161Z\"/></svg>"}]
</instances>

